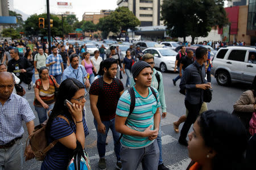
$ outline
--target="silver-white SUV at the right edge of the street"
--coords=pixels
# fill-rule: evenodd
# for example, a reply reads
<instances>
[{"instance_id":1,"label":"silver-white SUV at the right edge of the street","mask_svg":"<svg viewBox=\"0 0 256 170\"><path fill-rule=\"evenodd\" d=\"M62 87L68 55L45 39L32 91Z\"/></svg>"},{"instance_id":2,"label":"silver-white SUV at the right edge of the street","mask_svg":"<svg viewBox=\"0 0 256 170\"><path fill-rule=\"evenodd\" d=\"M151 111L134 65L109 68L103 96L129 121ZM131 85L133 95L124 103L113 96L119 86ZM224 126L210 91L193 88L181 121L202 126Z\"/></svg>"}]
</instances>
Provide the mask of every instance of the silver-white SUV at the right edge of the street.
<instances>
[{"instance_id":1,"label":"silver-white SUV at the right edge of the street","mask_svg":"<svg viewBox=\"0 0 256 170\"><path fill-rule=\"evenodd\" d=\"M256 64L249 63L250 56L256 56L256 49L243 46L220 48L212 60L211 73L221 86L228 86L232 80L253 82Z\"/></svg>"}]
</instances>

